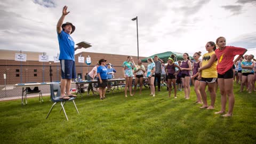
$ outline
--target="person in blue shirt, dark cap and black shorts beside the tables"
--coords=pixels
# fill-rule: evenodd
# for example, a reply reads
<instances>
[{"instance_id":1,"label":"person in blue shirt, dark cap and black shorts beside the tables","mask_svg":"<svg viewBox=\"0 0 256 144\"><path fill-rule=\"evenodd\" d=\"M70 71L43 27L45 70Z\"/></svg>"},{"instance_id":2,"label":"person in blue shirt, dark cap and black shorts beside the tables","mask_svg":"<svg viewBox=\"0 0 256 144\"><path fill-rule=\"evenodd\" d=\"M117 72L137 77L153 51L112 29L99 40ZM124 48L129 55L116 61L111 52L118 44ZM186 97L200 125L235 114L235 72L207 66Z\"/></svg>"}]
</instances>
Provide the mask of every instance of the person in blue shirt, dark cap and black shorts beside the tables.
<instances>
[{"instance_id":1,"label":"person in blue shirt, dark cap and black shorts beside the tables","mask_svg":"<svg viewBox=\"0 0 256 144\"><path fill-rule=\"evenodd\" d=\"M98 75L98 86L99 86L99 94L100 99L105 99L105 93L106 93L106 86L108 83L108 74L107 74L107 68L105 59L100 59L99 64L100 66L97 68L97 75Z\"/></svg>"}]
</instances>

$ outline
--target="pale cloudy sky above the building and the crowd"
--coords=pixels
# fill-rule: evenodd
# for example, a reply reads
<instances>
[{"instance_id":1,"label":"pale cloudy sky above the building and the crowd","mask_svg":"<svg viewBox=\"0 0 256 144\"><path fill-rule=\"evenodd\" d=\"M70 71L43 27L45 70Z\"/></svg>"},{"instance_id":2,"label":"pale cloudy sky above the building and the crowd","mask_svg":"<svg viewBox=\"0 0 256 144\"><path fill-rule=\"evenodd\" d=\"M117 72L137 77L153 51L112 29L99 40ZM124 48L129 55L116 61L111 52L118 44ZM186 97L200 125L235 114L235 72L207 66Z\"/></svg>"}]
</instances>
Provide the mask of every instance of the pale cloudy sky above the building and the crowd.
<instances>
[{"instance_id":1,"label":"pale cloudy sky above the building and the crowd","mask_svg":"<svg viewBox=\"0 0 256 144\"><path fill-rule=\"evenodd\" d=\"M75 42L93 46L76 52L148 57L166 51L205 51L219 36L227 45L245 47L256 55L256 0L1 0L0 49L59 53L56 24L62 7L70 13Z\"/></svg>"}]
</instances>

